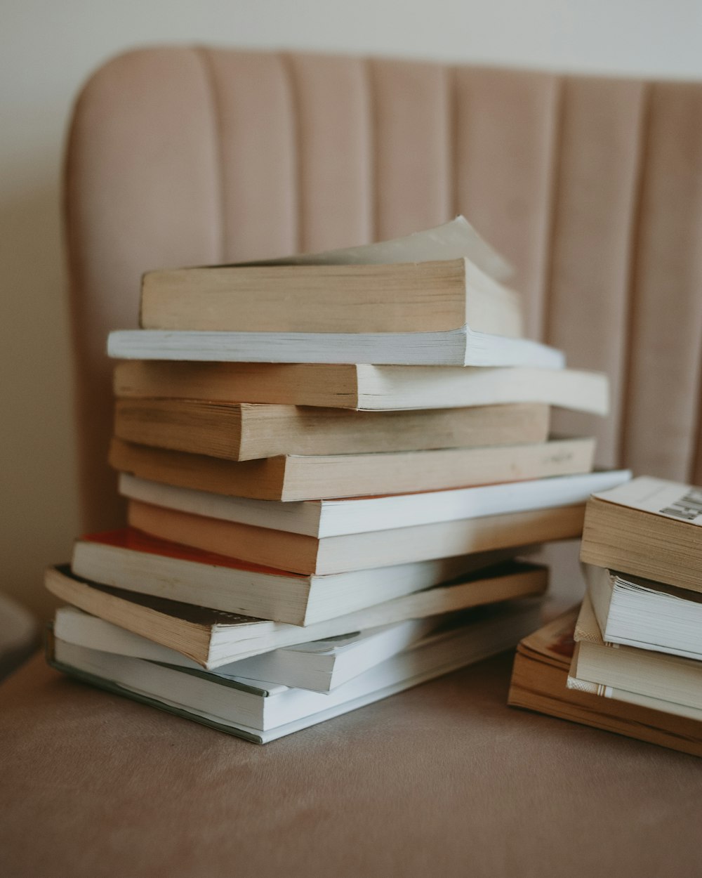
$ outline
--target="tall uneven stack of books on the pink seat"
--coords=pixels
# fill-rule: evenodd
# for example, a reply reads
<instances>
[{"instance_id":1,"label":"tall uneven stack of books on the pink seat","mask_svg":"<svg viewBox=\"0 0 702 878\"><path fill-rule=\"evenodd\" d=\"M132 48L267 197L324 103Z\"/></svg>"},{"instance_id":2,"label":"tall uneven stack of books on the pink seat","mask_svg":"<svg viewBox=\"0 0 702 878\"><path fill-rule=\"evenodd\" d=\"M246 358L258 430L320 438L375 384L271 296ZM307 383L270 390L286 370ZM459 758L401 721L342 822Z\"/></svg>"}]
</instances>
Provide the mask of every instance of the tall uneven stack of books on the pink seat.
<instances>
[{"instance_id":1,"label":"tall uneven stack of books on the pink seat","mask_svg":"<svg viewBox=\"0 0 702 878\"><path fill-rule=\"evenodd\" d=\"M602 375L521 335L462 218L363 248L144 277L115 332L128 527L47 572L54 664L264 742L517 643L584 503L628 478L551 406Z\"/></svg>"}]
</instances>

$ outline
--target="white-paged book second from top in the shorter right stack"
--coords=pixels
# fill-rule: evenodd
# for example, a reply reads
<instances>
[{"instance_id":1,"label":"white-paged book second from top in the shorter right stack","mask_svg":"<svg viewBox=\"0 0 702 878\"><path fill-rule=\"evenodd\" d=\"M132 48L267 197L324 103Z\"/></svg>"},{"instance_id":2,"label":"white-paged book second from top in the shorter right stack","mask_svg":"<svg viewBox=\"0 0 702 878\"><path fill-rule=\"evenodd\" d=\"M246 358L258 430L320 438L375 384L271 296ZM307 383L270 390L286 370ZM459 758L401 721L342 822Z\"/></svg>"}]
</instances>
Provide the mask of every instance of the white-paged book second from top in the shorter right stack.
<instances>
[{"instance_id":1,"label":"white-paged book second from top in the shorter right stack","mask_svg":"<svg viewBox=\"0 0 702 878\"><path fill-rule=\"evenodd\" d=\"M583 567L606 643L702 659L702 594L605 567Z\"/></svg>"}]
</instances>

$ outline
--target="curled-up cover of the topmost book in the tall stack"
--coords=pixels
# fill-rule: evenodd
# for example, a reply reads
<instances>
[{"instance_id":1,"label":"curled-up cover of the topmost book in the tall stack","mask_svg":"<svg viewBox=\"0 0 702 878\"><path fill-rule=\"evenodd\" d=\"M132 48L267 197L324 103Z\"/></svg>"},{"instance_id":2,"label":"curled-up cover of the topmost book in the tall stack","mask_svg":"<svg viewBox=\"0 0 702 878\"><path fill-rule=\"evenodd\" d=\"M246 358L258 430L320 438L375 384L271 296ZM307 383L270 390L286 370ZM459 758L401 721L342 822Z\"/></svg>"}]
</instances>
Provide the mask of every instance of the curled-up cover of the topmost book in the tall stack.
<instances>
[{"instance_id":1,"label":"curled-up cover of the topmost book in the tall stack","mask_svg":"<svg viewBox=\"0 0 702 878\"><path fill-rule=\"evenodd\" d=\"M512 265L491 247L460 214L441 226L419 232L375 241L357 247L323 250L319 253L298 253L247 265L377 265L421 263L446 259L468 258L485 274L498 281L509 280Z\"/></svg>"}]
</instances>

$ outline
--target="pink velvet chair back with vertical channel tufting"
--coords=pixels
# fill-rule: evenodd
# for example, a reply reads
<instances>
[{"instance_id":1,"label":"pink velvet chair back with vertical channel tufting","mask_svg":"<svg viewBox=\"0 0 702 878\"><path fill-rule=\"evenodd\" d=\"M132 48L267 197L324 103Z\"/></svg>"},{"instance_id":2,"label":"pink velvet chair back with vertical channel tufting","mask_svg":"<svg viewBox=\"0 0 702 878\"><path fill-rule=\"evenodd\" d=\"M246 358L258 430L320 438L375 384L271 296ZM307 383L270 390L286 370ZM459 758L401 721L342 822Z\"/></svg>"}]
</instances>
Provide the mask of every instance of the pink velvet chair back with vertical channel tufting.
<instances>
[{"instance_id":1,"label":"pink velvet chair back with vertical channel tufting","mask_svg":"<svg viewBox=\"0 0 702 878\"><path fill-rule=\"evenodd\" d=\"M98 70L68 142L85 526L120 515L104 344L142 271L457 212L516 265L530 335L610 374L598 459L702 480L701 84L164 47Z\"/></svg>"}]
</instances>

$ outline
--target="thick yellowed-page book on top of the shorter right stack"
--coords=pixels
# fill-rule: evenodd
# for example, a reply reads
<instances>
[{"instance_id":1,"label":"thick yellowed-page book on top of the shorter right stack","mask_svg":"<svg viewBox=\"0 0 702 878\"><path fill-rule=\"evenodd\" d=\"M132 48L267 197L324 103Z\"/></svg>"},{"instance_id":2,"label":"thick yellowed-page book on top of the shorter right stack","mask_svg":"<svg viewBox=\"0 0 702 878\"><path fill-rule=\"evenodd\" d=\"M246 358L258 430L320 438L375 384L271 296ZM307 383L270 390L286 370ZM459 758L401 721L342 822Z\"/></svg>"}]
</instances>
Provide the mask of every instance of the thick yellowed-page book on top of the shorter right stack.
<instances>
[{"instance_id":1,"label":"thick yellowed-page book on top of the shorter right stack","mask_svg":"<svg viewBox=\"0 0 702 878\"><path fill-rule=\"evenodd\" d=\"M594 495L580 558L702 592L702 489L640 476Z\"/></svg>"}]
</instances>

